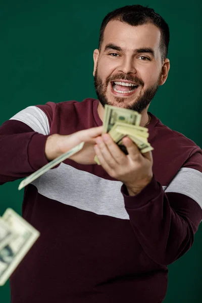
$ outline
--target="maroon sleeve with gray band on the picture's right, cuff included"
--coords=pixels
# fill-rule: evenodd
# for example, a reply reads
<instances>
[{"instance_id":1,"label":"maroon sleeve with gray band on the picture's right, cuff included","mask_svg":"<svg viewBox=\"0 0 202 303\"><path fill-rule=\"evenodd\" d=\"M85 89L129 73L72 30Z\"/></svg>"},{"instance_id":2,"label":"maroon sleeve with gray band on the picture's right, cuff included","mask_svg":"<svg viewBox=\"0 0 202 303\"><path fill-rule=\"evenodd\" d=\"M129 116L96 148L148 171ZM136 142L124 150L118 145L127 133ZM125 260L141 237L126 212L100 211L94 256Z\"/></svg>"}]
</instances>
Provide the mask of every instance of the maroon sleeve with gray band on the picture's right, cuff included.
<instances>
[{"instance_id":1,"label":"maroon sleeve with gray band on the picture's right, cuff included","mask_svg":"<svg viewBox=\"0 0 202 303\"><path fill-rule=\"evenodd\" d=\"M202 220L202 155L196 148L187 163L164 190L155 179L137 195L121 192L130 222L146 254L161 265L169 265L193 244Z\"/></svg>"}]
</instances>

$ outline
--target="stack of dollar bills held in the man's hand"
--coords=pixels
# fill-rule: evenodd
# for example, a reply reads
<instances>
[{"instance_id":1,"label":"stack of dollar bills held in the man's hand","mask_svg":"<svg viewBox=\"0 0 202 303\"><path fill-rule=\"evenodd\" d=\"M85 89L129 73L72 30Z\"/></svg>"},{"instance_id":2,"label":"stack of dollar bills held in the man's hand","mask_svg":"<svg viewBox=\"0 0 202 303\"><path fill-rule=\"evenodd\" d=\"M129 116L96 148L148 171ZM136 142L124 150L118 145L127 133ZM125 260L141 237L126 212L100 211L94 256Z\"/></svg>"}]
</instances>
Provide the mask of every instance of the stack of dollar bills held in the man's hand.
<instances>
[{"instance_id":1,"label":"stack of dollar bills held in the man's hand","mask_svg":"<svg viewBox=\"0 0 202 303\"><path fill-rule=\"evenodd\" d=\"M141 115L135 111L105 105L103 134L109 133L117 145L128 155L122 142L124 137L129 137L139 148L141 153L146 153L154 148L148 143L148 128L139 126ZM99 165L97 156L94 161Z\"/></svg>"}]
</instances>

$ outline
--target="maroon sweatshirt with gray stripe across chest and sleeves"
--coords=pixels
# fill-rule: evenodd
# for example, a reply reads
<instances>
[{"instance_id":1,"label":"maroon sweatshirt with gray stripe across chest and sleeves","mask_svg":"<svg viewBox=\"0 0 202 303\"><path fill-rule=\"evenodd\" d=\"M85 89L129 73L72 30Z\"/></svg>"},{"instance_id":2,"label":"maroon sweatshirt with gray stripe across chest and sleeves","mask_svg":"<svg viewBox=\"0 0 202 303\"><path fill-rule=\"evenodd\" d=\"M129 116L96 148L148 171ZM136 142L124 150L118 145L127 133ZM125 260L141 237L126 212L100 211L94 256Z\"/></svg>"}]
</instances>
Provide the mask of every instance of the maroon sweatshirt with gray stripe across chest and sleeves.
<instances>
[{"instance_id":1,"label":"maroon sweatshirt with gray stripe across chest and sleeves","mask_svg":"<svg viewBox=\"0 0 202 303\"><path fill-rule=\"evenodd\" d=\"M48 135L101 126L97 106L48 102L6 121L0 183L47 164ZM162 302L167 265L191 247L202 220L202 155L149 114L154 177L137 195L102 166L69 159L26 186L22 214L40 237L11 276L12 303Z\"/></svg>"}]
</instances>

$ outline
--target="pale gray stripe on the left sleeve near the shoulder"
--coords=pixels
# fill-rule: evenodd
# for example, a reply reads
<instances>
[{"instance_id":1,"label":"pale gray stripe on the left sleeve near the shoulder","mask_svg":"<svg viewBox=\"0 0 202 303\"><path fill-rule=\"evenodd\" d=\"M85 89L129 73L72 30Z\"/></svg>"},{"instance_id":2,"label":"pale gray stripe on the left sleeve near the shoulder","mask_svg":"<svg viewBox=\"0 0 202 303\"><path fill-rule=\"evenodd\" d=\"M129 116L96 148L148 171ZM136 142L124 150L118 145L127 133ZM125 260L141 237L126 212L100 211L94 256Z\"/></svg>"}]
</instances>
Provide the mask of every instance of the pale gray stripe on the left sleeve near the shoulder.
<instances>
[{"instance_id":1,"label":"pale gray stripe on the left sleeve near the shoulder","mask_svg":"<svg viewBox=\"0 0 202 303\"><path fill-rule=\"evenodd\" d=\"M9 120L17 120L27 124L39 134L49 134L49 123L45 113L36 106L29 106Z\"/></svg>"}]
</instances>

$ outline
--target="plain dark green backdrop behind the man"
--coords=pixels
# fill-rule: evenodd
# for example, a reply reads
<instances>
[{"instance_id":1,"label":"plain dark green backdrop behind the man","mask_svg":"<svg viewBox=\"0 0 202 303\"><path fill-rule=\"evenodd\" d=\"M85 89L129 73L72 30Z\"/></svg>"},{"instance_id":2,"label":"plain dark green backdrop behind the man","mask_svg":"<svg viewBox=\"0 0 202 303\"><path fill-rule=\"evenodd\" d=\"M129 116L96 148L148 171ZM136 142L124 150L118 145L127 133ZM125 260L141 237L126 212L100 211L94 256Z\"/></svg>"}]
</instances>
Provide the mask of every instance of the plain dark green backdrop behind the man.
<instances>
[{"instance_id":1,"label":"plain dark green backdrop behind the man","mask_svg":"<svg viewBox=\"0 0 202 303\"><path fill-rule=\"evenodd\" d=\"M31 105L96 98L92 54L98 46L100 24L110 11L133 4L154 8L170 27L170 73L149 111L201 147L199 0L191 4L187 0L1 1L0 125ZM21 214L23 191L18 191L19 183L17 180L0 187L0 215L8 207ZM191 250L169 266L164 302L201 302L201 235L200 226ZM0 288L0 298L3 303L10 302L9 282Z\"/></svg>"}]
</instances>

